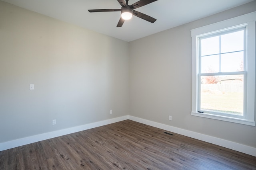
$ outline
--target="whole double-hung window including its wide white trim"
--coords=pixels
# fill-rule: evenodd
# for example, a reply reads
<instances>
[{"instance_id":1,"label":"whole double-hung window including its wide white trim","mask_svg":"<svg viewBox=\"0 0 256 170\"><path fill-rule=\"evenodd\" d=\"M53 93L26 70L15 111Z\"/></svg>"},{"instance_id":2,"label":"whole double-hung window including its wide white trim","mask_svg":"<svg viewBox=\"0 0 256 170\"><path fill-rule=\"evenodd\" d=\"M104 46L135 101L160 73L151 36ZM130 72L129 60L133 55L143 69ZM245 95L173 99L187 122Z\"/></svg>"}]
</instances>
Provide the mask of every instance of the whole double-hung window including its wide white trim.
<instances>
[{"instance_id":1,"label":"whole double-hung window including its wide white trim","mask_svg":"<svg viewBox=\"0 0 256 170\"><path fill-rule=\"evenodd\" d=\"M191 30L192 115L255 126L255 18Z\"/></svg>"}]
</instances>

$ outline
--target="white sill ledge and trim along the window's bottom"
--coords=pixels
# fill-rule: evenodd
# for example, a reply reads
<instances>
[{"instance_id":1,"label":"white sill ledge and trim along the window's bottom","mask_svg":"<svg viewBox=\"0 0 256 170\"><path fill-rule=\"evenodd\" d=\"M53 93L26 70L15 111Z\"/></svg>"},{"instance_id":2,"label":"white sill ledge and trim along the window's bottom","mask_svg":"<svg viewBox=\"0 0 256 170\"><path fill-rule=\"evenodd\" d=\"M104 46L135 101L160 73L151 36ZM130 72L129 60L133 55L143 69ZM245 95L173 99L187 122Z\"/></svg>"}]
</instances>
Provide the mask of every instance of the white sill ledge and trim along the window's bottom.
<instances>
[{"instance_id":1,"label":"white sill ledge and trim along the window's bottom","mask_svg":"<svg viewBox=\"0 0 256 170\"><path fill-rule=\"evenodd\" d=\"M209 113L198 113L198 112L191 112L192 116L199 116L199 117L206 117L206 118L210 118L210 119L216 119L216 120L221 120L221 121L229 121L229 122L233 122L233 123L240 123L240 124L244 124L244 125L250 125L250 126L255 126L255 121L249 121L246 119L236 119L233 117L224 117L224 116L218 116L218 115L212 115Z\"/></svg>"}]
</instances>

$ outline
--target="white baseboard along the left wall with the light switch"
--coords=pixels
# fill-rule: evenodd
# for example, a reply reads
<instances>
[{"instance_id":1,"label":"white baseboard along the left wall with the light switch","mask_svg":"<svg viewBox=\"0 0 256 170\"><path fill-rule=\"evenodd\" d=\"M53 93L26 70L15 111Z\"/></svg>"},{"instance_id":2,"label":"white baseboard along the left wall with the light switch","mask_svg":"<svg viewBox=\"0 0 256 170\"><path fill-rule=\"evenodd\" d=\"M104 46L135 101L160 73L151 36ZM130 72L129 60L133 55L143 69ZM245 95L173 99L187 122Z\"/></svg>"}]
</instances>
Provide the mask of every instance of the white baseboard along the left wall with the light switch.
<instances>
[{"instance_id":1,"label":"white baseboard along the left wall with the light switch","mask_svg":"<svg viewBox=\"0 0 256 170\"><path fill-rule=\"evenodd\" d=\"M27 144L34 143L34 142L39 142L39 141L43 141L43 140L46 140L46 139L51 139L51 138L54 138L54 137L59 137L59 136L62 136L62 135L68 135L70 133L84 131L86 129L92 129L94 127L108 125L110 123L116 123L118 121L123 121L123 120L126 120L126 119L128 119L128 115L122 116L122 117L116 117L116 118L113 118L113 119L107 119L107 120L104 120L104 121L89 123L89 124L86 124L86 125L71 127L71 128L67 128L67 129L61 129L61 130L58 130L58 131L42 133L42 134L39 134L39 135L34 135L34 136L30 136L30 137L16 139L16 140L4 142L4 143L0 143L0 151L15 148L15 147L20 147L22 145L27 145Z\"/></svg>"}]
</instances>

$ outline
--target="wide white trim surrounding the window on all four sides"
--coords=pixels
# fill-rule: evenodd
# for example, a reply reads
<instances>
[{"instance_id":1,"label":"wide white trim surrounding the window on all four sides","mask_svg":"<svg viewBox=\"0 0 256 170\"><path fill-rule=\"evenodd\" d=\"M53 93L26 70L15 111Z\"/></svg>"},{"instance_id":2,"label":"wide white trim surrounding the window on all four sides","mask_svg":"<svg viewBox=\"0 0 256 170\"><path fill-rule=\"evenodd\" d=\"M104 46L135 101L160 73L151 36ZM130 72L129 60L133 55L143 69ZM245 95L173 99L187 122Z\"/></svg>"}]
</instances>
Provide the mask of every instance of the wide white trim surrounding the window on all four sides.
<instances>
[{"instance_id":1,"label":"wide white trim surrounding the window on all four sides","mask_svg":"<svg viewBox=\"0 0 256 170\"><path fill-rule=\"evenodd\" d=\"M225 21L220 21L211 25L206 25L204 27L196 28L191 30L192 36L192 111L191 115L206 117L211 119L217 119L222 121L229 121L233 123L241 123L245 125L255 126L255 21L256 21L256 12L238 16ZM225 30L230 27L239 25L247 25L247 98L246 100L246 110L247 117L245 119L238 119L233 117L225 117L212 115L209 113L198 113L198 104L197 104L197 89L198 89L198 48L197 41L198 36L206 33L213 33L220 30Z\"/></svg>"}]
</instances>

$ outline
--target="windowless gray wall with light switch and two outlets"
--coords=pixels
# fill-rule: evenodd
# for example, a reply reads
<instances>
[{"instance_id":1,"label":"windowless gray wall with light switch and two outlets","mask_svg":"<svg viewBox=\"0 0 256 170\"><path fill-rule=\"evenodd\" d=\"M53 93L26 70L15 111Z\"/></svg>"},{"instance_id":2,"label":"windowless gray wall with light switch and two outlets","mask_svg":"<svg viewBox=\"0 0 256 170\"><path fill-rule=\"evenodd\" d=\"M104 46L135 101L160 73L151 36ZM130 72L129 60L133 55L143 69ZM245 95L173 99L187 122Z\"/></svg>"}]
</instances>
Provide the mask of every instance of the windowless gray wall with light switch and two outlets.
<instances>
[{"instance_id":1,"label":"windowless gray wall with light switch and two outlets","mask_svg":"<svg viewBox=\"0 0 256 170\"><path fill-rule=\"evenodd\" d=\"M0 143L128 115L128 63L125 41L0 1Z\"/></svg>"}]
</instances>

